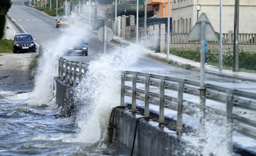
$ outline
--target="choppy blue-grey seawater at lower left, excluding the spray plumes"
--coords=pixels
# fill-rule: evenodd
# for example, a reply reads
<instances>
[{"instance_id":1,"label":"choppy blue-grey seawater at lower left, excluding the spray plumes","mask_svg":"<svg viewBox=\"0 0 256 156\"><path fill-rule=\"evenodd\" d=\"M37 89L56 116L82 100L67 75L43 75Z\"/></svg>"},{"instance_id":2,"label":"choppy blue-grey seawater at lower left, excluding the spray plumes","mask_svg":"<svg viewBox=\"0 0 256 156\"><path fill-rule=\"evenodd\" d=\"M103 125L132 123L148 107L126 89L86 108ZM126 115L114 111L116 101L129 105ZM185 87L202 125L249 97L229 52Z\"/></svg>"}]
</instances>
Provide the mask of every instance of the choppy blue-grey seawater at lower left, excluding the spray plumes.
<instances>
[{"instance_id":1,"label":"choppy blue-grey seawater at lower left, excluding the spray plumes","mask_svg":"<svg viewBox=\"0 0 256 156\"><path fill-rule=\"evenodd\" d=\"M60 116L55 98L35 103L32 92L15 93L0 92L1 156L118 155L100 141L79 142L74 118Z\"/></svg>"}]
</instances>

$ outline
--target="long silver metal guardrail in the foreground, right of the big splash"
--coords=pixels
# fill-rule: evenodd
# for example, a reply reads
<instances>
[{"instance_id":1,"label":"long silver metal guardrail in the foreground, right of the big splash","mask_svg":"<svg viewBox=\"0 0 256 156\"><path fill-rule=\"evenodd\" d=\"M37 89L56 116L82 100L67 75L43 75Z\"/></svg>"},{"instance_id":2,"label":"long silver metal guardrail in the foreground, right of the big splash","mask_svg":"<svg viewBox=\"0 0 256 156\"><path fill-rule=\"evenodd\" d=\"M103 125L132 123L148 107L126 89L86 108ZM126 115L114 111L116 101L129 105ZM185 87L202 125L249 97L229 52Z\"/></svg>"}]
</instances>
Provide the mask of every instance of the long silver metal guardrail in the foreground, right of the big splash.
<instances>
[{"instance_id":1,"label":"long silver metal guardrail in the foreground, right of the big splash","mask_svg":"<svg viewBox=\"0 0 256 156\"><path fill-rule=\"evenodd\" d=\"M132 82L125 85L125 82ZM136 87L144 84L144 89ZM159 87L156 92L154 87ZM229 89L210 84L205 85L206 99L224 103L226 111L183 99L183 94L200 96L200 82L178 79L154 74L123 71L121 78L121 106L124 96L132 97L132 112L136 112L136 99L145 102L144 116L149 117L149 103L159 105L159 125L164 124L164 108L177 111L177 135L182 133L182 114L200 119L200 133L205 133L205 122L226 126L226 140L229 153L233 152L233 130L256 139L256 121L233 114L233 107L239 107L256 112L256 94ZM165 93L166 90L176 91L178 97ZM176 94L177 96L177 94ZM203 117L203 118L202 118Z\"/></svg>"}]
</instances>

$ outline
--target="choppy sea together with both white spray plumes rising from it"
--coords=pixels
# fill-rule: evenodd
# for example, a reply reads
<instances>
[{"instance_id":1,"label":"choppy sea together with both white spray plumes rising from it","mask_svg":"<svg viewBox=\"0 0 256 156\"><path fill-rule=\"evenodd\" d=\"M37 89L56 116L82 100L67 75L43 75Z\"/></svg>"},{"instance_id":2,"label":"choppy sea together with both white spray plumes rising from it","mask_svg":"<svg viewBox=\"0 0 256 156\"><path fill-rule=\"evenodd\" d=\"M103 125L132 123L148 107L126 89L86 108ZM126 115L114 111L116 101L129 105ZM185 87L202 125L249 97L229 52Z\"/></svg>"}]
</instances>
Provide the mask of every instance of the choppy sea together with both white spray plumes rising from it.
<instances>
[{"instance_id":1,"label":"choppy sea together with both white spray plumes rising from it","mask_svg":"<svg viewBox=\"0 0 256 156\"><path fill-rule=\"evenodd\" d=\"M39 59L33 89L0 90L0 156L119 155L108 146L108 120L120 105L120 70L136 63L138 48L115 50L89 63L86 79L75 89L80 112L69 118L56 105L53 77L61 52L52 51Z\"/></svg>"}]
</instances>

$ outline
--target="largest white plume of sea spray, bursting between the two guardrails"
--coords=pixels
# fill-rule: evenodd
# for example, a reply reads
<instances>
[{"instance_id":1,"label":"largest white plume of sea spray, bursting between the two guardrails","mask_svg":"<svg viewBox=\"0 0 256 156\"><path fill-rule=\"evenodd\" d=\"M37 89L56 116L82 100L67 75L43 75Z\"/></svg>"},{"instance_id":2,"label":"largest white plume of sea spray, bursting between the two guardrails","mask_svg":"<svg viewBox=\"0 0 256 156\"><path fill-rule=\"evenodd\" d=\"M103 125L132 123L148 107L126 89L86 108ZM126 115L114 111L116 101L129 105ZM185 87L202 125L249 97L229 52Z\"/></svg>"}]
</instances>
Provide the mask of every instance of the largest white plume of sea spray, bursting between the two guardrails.
<instances>
[{"instance_id":1,"label":"largest white plume of sea spray, bursting between the two guardrails","mask_svg":"<svg viewBox=\"0 0 256 156\"><path fill-rule=\"evenodd\" d=\"M139 46L131 45L89 63L89 72L74 97L80 104L76 117L79 142L106 140L111 110L120 105L121 71L129 70L141 55Z\"/></svg>"}]
</instances>

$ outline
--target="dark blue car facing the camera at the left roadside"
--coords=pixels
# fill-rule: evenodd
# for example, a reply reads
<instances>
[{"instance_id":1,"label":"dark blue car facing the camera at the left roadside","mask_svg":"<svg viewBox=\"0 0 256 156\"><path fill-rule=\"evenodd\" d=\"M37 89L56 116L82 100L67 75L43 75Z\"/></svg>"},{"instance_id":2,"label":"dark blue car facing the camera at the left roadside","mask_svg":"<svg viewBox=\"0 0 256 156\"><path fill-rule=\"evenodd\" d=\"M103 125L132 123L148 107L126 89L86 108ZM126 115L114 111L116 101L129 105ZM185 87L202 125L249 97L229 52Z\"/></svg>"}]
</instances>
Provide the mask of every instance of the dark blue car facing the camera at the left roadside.
<instances>
[{"instance_id":1,"label":"dark blue car facing the camera at the left roadside","mask_svg":"<svg viewBox=\"0 0 256 156\"><path fill-rule=\"evenodd\" d=\"M17 52L36 52L36 44L30 33L16 34L13 39L13 53Z\"/></svg>"}]
</instances>

